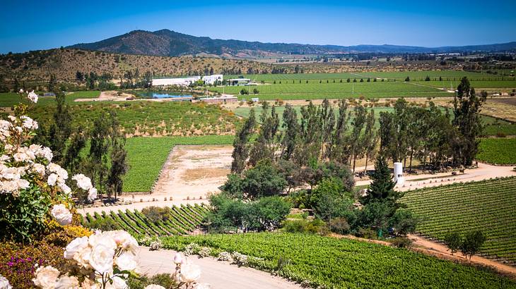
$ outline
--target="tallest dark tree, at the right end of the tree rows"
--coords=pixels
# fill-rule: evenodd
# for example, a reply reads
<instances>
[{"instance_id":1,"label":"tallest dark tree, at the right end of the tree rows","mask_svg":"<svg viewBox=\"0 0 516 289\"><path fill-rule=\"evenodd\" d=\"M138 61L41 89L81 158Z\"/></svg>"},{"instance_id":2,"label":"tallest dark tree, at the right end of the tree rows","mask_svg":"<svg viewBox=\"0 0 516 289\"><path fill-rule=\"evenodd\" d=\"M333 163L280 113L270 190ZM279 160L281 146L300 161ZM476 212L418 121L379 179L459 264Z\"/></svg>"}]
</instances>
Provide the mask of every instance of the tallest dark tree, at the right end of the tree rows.
<instances>
[{"instance_id":1,"label":"tallest dark tree, at the right end of the tree rows","mask_svg":"<svg viewBox=\"0 0 516 289\"><path fill-rule=\"evenodd\" d=\"M486 102L487 93L482 92L480 97L475 89L469 85L469 80L462 78L457 87L457 95L453 99L452 123L459 133L459 141L455 147L455 164L471 166L476 153L479 151L477 137L482 133L481 106Z\"/></svg>"}]
</instances>

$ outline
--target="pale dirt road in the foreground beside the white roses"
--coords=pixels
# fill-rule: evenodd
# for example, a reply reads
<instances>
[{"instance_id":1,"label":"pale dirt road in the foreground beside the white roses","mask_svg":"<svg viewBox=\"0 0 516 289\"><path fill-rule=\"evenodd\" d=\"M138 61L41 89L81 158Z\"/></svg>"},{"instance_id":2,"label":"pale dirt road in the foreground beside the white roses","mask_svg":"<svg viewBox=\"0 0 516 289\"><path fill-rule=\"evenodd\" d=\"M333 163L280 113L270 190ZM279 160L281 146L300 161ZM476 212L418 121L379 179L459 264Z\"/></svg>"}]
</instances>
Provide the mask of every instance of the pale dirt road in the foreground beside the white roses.
<instances>
[{"instance_id":1,"label":"pale dirt road in the foreground beside the white roses","mask_svg":"<svg viewBox=\"0 0 516 289\"><path fill-rule=\"evenodd\" d=\"M173 262L175 251L149 251L140 247L137 254L141 273L154 275L172 273L175 270ZM201 267L201 283L209 283L213 289L300 289L300 285L286 279L272 276L264 271L248 267L230 265L213 258L187 257L189 262Z\"/></svg>"}]
</instances>

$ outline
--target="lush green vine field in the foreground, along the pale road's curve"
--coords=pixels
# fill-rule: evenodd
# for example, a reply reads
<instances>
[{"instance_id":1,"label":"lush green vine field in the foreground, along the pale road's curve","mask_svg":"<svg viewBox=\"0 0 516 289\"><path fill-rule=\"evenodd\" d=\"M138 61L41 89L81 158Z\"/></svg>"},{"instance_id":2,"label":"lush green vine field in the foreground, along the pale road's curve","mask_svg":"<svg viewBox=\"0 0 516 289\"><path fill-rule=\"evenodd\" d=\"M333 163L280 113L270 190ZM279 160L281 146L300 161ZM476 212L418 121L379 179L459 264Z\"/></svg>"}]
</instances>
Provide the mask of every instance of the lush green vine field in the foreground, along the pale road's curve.
<instances>
[{"instance_id":1,"label":"lush green vine field in the foreground, along the pale road's curve","mask_svg":"<svg viewBox=\"0 0 516 289\"><path fill-rule=\"evenodd\" d=\"M293 233L165 237L163 247L191 242L218 252L240 252L250 266L312 288L516 288L489 271L424 254L356 240ZM280 259L282 261L280 261Z\"/></svg>"}]
</instances>

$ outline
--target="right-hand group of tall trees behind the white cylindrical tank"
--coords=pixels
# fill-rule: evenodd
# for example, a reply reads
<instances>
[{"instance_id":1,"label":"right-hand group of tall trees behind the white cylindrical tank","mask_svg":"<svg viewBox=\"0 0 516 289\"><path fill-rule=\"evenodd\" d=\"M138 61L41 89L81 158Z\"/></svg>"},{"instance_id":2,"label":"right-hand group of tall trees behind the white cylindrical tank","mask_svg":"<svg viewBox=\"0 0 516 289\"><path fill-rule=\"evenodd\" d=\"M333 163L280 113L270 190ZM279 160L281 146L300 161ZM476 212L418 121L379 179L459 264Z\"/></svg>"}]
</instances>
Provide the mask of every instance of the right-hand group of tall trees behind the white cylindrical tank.
<instances>
[{"instance_id":1,"label":"right-hand group of tall trees behind the white cylindrical tank","mask_svg":"<svg viewBox=\"0 0 516 289\"><path fill-rule=\"evenodd\" d=\"M482 133L481 105L486 92L477 95L463 78L452 113L430 102L429 108L409 106L398 99L394 111L380 113L380 152L412 168L413 159L423 167L471 166Z\"/></svg>"}]
</instances>

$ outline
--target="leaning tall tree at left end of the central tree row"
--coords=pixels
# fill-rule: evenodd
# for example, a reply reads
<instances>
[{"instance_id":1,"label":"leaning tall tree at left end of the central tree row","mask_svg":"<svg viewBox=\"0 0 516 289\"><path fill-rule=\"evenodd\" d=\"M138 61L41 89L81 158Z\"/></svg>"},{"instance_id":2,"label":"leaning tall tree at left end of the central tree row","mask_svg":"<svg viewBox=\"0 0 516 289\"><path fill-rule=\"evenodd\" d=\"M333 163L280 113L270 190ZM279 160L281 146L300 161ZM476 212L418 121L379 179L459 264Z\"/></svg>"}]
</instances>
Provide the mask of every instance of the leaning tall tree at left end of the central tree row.
<instances>
[{"instance_id":1,"label":"leaning tall tree at left end of the central tree row","mask_svg":"<svg viewBox=\"0 0 516 289\"><path fill-rule=\"evenodd\" d=\"M247 156L249 156L249 148L247 142L253 133L256 119L254 118L254 109L251 109L249 118L245 121L242 128L237 131L235 140L233 141L233 162L231 163L231 173L242 173L245 168Z\"/></svg>"}]
</instances>

